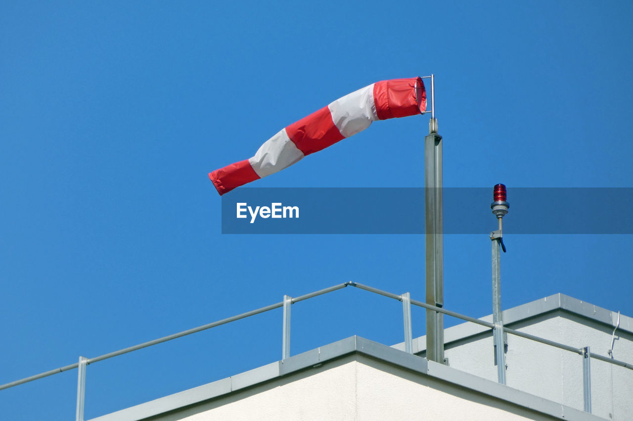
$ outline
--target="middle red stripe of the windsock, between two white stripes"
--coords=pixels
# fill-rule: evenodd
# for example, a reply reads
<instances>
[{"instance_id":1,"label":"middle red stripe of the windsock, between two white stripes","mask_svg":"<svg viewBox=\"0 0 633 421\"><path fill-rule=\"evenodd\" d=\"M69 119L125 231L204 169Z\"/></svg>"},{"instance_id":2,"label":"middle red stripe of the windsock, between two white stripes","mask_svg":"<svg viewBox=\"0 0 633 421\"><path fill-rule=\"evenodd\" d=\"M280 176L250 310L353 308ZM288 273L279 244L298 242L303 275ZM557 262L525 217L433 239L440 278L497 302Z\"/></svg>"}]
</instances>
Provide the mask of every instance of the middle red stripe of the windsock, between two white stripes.
<instances>
[{"instance_id":1,"label":"middle red stripe of the windsock, between two white stripes","mask_svg":"<svg viewBox=\"0 0 633 421\"><path fill-rule=\"evenodd\" d=\"M332 121L328 107L310 114L285 128L288 137L304 155L310 155L343 140Z\"/></svg>"}]
</instances>

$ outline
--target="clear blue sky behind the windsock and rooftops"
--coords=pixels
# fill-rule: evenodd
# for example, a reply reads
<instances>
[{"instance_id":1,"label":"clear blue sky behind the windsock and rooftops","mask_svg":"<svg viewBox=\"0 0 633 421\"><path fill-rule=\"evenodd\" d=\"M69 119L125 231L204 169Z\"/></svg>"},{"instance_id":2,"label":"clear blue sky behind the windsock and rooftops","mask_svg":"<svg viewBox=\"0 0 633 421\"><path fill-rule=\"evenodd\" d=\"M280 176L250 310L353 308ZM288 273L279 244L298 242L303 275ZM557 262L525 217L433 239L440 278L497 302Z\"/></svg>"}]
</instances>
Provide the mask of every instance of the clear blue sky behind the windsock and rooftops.
<instances>
[{"instance_id":1,"label":"clear blue sky behind the windsock and rooftops","mask_svg":"<svg viewBox=\"0 0 633 421\"><path fill-rule=\"evenodd\" d=\"M505 183L510 204L513 187L633 187L632 18L624 1L4 2L0 383L345 281L423 300L423 236L222 235L207 177L378 80L436 75L444 186ZM256 183L422 186L427 133L381 121ZM631 235L505 242L504 308L561 292L633 315ZM491 312L489 243L444 239L447 308ZM292 353L402 341L401 305L364 291L292 312ZM281 317L90 365L86 418L278 360ZM76 375L0 391L4 417L72 418Z\"/></svg>"}]
</instances>

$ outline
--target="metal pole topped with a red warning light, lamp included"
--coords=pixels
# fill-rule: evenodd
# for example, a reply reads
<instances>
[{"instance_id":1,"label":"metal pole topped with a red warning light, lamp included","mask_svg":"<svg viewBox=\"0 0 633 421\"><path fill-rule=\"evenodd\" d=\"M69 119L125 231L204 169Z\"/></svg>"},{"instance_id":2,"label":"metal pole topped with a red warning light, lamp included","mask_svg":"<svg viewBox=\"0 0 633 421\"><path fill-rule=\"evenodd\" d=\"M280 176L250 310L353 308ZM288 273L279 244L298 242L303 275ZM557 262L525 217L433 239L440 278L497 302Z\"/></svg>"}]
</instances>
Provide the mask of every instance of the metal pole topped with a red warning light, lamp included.
<instances>
[{"instance_id":1,"label":"metal pole topped with a red warning light, lamp included","mask_svg":"<svg viewBox=\"0 0 633 421\"><path fill-rule=\"evenodd\" d=\"M505 345L503 340L503 317L501 316L501 252L499 247L506 251L503 244L503 217L508 213L510 204L506 202L506 186L498 184L494 186L492 193L492 213L497 217L499 228L492 231L490 240L492 241L492 323L494 331L494 357L497 362L497 377L499 383L506 384L506 358Z\"/></svg>"}]
</instances>

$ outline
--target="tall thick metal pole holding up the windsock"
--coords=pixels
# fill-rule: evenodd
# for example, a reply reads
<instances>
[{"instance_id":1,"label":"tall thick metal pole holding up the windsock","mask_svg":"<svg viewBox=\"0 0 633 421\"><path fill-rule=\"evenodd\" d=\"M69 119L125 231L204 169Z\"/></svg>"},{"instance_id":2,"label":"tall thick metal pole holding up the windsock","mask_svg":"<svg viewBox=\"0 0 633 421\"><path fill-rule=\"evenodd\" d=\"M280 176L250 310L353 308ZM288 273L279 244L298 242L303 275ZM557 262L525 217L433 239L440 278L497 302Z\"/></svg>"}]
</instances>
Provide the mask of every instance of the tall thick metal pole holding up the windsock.
<instances>
[{"instance_id":1,"label":"tall thick metal pole holding up the windsock","mask_svg":"<svg viewBox=\"0 0 633 421\"><path fill-rule=\"evenodd\" d=\"M444 241L442 203L442 137L435 118L435 78L431 75L429 135L424 138L426 302L444 306ZM444 318L427 310L427 358L444 363Z\"/></svg>"}]
</instances>

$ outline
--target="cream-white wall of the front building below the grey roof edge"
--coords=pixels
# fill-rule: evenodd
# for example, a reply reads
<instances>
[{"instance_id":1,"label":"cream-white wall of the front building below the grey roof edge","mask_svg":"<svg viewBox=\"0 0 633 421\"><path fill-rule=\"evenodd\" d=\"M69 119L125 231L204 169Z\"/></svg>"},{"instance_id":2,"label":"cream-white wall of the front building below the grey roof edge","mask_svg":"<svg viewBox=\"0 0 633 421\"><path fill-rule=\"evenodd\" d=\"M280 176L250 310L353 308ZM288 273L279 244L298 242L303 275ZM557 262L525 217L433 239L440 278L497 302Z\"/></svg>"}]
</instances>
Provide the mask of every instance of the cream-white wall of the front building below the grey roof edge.
<instances>
[{"instance_id":1,"label":"cream-white wall of the front building below the grey roof edge","mask_svg":"<svg viewBox=\"0 0 633 421\"><path fill-rule=\"evenodd\" d=\"M354 356L309 375L218 398L160 420L551 420L372 358ZM206 406L206 408L205 408Z\"/></svg>"}]
</instances>

